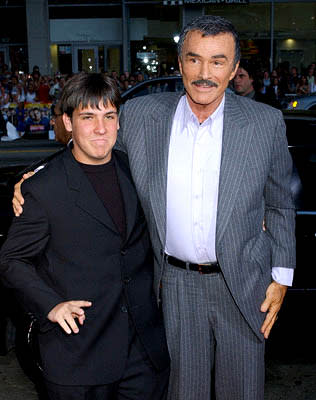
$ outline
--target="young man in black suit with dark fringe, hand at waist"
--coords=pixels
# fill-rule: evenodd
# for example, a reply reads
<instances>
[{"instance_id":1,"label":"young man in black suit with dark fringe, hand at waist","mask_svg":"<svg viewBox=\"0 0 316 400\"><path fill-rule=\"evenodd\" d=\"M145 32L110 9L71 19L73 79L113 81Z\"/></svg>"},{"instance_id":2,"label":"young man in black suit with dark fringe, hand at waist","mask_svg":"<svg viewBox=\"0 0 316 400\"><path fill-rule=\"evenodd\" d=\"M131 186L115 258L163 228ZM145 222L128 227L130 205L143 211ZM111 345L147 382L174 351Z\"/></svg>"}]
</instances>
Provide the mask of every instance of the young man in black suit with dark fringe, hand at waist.
<instances>
[{"instance_id":1,"label":"young man in black suit with dark fringe, hand at waist","mask_svg":"<svg viewBox=\"0 0 316 400\"><path fill-rule=\"evenodd\" d=\"M153 264L126 155L113 152L120 96L81 73L60 108L73 148L22 186L24 213L0 255L1 278L40 326L50 399L163 399L168 353Z\"/></svg>"}]
</instances>

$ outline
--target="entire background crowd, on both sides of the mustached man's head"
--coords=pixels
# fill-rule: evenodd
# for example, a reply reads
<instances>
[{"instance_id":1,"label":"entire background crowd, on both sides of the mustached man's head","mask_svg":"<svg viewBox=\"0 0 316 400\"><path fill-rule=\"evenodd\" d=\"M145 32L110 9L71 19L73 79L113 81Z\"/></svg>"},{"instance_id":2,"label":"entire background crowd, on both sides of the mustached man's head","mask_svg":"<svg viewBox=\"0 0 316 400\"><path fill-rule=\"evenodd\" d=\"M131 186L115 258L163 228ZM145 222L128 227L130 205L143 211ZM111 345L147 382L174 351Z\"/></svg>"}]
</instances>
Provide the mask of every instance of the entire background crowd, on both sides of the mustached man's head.
<instances>
[{"instance_id":1,"label":"entire background crowd, on both sides of the mustached man's head","mask_svg":"<svg viewBox=\"0 0 316 400\"><path fill-rule=\"evenodd\" d=\"M240 82L237 79L232 80L229 87L237 94L244 96L251 84L250 97L281 109L283 100L288 95L316 93L315 62L302 68L301 74L297 67L289 67L286 63L279 64L272 72L249 60L243 60L242 66L251 82L247 84L244 80L246 87L240 88ZM179 71L174 70L171 75L178 74ZM156 77L141 71L124 71L119 74L113 70L105 71L104 75L115 80L121 94L144 80ZM164 73L166 75L167 72ZM12 123L19 136L25 131L47 131L50 106L58 102L69 77L70 75L59 72L54 76L42 75L37 65L33 67L31 74L11 72L5 64L0 66L0 134L7 133L7 121ZM248 93L246 95L249 97Z\"/></svg>"}]
</instances>

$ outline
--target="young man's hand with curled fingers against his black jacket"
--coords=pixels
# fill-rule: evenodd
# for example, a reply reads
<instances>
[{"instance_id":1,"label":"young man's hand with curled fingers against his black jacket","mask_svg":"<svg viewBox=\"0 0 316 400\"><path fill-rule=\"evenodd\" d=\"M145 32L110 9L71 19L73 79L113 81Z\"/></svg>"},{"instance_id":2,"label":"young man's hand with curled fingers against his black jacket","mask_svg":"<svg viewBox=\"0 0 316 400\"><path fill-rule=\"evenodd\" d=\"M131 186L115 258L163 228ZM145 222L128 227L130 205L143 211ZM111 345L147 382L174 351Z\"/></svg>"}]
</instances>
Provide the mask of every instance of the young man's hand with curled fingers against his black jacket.
<instances>
[{"instance_id":1,"label":"young man's hand with curled fingers against his black jacket","mask_svg":"<svg viewBox=\"0 0 316 400\"><path fill-rule=\"evenodd\" d=\"M90 307L92 303L84 300L72 300L59 303L47 315L51 322L57 322L63 330L70 333L78 333L79 328L75 322L78 319L80 325L83 325L85 313L81 307Z\"/></svg>"}]
</instances>

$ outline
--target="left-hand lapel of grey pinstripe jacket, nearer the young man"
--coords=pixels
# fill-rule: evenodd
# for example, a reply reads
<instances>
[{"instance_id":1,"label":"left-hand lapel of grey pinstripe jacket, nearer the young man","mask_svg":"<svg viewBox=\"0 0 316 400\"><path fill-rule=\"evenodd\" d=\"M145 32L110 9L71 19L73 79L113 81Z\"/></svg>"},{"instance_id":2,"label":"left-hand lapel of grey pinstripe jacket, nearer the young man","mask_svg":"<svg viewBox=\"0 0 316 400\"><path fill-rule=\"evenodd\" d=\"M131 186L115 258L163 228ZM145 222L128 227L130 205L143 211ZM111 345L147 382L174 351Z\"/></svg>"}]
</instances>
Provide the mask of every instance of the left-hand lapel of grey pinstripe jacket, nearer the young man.
<instances>
[{"instance_id":1,"label":"left-hand lapel of grey pinstripe jacket, nearer the young man","mask_svg":"<svg viewBox=\"0 0 316 400\"><path fill-rule=\"evenodd\" d=\"M162 245L166 239L167 169L173 116L183 93L165 97L145 116L149 196ZM150 134L149 134L150 133Z\"/></svg>"}]
</instances>

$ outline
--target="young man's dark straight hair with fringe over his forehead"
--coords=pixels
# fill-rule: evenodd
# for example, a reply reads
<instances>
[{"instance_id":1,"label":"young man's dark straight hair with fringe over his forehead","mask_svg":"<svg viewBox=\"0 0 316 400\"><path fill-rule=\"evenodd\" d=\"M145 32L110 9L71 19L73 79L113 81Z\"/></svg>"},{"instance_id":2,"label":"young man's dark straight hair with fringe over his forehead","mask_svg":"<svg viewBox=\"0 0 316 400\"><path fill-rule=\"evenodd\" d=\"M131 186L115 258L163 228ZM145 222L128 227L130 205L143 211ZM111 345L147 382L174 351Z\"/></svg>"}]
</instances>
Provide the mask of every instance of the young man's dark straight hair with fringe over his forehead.
<instances>
[{"instance_id":1,"label":"young man's dark straight hair with fringe over his forehead","mask_svg":"<svg viewBox=\"0 0 316 400\"><path fill-rule=\"evenodd\" d=\"M110 102L117 111L121 95L116 82L103 74L80 72L66 82L60 98L60 110L72 117L76 108L99 108L100 101L106 106Z\"/></svg>"}]
</instances>

